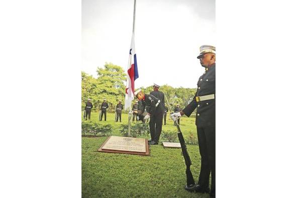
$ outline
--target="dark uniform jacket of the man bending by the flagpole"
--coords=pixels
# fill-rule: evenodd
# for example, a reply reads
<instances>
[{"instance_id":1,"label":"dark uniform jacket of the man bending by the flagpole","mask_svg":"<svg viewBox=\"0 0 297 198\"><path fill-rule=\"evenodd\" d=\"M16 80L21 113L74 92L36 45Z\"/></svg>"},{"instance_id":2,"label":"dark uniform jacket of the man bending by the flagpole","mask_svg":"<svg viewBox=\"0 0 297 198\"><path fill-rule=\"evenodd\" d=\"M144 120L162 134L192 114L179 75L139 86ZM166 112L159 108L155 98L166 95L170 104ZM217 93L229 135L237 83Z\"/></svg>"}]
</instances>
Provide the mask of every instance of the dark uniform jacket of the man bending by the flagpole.
<instances>
[{"instance_id":1,"label":"dark uniform jacket of the man bending by the flagpole","mask_svg":"<svg viewBox=\"0 0 297 198\"><path fill-rule=\"evenodd\" d=\"M159 99L151 94L144 94L144 100L141 101L142 109L141 113L144 112L145 107L149 107L149 110L147 113L149 113L151 116L158 113L164 113L164 107L159 103L159 105L156 107L156 104L158 103Z\"/></svg>"}]
</instances>

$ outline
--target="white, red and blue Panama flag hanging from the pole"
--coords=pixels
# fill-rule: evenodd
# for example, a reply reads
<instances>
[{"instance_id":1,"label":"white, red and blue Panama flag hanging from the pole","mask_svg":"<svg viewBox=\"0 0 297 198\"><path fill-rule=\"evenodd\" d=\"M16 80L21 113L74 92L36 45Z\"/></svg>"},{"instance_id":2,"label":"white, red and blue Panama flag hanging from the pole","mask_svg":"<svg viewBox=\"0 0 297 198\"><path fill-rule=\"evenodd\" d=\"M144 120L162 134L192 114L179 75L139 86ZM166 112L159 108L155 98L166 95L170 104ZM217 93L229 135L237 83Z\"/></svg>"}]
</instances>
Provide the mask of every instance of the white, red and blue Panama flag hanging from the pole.
<instances>
[{"instance_id":1,"label":"white, red and blue Panama flag hanging from the pole","mask_svg":"<svg viewBox=\"0 0 297 198\"><path fill-rule=\"evenodd\" d=\"M132 34L131 47L129 53L129 63L127 70L127 81L126 81L126 96L125 96L125 110L131 107L132 101L134 100L134 81L138 78L136 51L134 44L134 32Z\"/></svg>"}]
</instances>

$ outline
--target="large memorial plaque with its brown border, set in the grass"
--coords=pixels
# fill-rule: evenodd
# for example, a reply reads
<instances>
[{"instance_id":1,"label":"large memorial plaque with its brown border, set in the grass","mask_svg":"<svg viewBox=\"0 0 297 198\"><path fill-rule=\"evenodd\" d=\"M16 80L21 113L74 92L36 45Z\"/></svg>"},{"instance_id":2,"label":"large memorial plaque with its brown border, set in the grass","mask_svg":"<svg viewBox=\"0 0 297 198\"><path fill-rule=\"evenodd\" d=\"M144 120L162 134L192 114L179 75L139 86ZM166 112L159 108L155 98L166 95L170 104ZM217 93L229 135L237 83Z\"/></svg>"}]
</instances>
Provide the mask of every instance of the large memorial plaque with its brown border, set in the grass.
<instances>
[{"instance_id":1,"label":"large memorial plaque with its brown border, set in the grass","mask_svg":"<svg viewBox=\"0 0 297 198\"><path fill-rule=\"evenodd\" d=\"M147 139L120 136L110 136L98 151L149 155Z\"/></svg>"}]
</instances>

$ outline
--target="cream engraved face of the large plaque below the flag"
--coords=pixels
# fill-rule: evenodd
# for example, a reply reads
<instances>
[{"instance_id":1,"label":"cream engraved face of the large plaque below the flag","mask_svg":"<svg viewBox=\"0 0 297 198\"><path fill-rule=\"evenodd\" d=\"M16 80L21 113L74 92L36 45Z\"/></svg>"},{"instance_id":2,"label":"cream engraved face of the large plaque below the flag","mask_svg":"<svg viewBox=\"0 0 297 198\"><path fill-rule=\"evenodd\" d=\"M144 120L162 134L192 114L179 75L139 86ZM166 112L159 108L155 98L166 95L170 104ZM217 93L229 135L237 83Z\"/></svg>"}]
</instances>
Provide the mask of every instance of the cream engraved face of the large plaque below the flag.
<instances>
[{"instance_id":1,"label":"cream engraved face of the large plaque below the flag","mask_svg":"<svg viewBox=\"0 0 297 198\"><path fill-rule=\"evenodd\" d=\"M111 136L102 147L102 150L117 150L131 152L146 152L146 140L143 138L130 138Z\"/></svg>"}]
</instances>

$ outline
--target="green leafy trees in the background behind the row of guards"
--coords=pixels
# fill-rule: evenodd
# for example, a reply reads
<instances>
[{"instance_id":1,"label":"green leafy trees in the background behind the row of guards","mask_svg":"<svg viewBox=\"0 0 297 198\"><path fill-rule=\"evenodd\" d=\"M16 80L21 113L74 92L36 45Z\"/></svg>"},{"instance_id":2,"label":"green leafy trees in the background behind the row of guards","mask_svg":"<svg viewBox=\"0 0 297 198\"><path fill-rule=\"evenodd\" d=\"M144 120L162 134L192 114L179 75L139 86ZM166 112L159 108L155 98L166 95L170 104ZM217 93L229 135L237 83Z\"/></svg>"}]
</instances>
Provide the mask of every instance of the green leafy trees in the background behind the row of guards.
<instances>
[{"instance_id":1,"label":"green leafy trees in the background behind the row of guards","mask_svg":"<svg viewBox=\"0 0 297 198\"><path fill-rule=\"evenodd\" d=\"M118 65L112 63L105 63L104 68L97 67L97 78L92 75L88 75L85 72L81 72L81 103L85 106L87 99L90 98L95 109L101 107L104 98L109 103L109 111L114 111L115 106L119 100L125 100L125 83L126 73L125 70ZM150 93L153 90L153 86L141 87L145 93ZM174 88L167 84L163 85L159 89L167 97L171 108L174 108L177 104L181 108L187 106L192 100L196 88ZM165 100L165 105L167 102Z\"/></svg>"}]
</instances>

